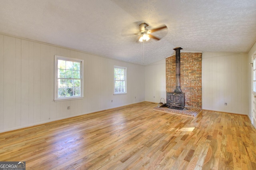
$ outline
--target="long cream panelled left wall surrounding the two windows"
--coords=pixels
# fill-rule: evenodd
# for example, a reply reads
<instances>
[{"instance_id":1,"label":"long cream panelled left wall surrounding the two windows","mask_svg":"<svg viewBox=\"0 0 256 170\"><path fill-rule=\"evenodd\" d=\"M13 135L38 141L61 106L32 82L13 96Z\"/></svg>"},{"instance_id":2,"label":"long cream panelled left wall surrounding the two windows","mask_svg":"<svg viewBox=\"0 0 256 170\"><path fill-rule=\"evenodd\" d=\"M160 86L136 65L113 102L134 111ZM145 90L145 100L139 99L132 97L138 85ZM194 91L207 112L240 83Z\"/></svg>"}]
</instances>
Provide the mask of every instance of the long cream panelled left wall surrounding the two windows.
<instances>
[{"instance_id":1,"label":"long cream panelled left wall surrounding the two windows","mask_svg":"<svg viewBox=\"0 0 256 170\"><path fill-rule=\"evenodd\" d=\"M84 59L84 99L54 102L54 55ZM127 67L126 95L113 95L114 65ZM144 77L141 65L0 34L0 132L145 101Z\"/></svg>"}]
</instances>

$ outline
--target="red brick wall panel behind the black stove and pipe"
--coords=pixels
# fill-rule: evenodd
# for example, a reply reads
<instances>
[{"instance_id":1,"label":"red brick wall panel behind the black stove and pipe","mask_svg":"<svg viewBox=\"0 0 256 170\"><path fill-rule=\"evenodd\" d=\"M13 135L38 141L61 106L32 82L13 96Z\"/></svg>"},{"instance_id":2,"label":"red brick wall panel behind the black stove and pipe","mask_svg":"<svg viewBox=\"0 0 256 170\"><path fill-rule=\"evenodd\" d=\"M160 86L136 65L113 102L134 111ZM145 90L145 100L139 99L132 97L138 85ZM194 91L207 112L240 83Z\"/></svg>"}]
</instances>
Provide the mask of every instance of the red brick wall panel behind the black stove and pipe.
<instances>
[{"instance_id":1,"label":"red brick wall panel behind the black stove and pipe","mask_svg":"<svg viewBox=\"0 0 256 170\"><path fill-rule=\"evenodd\" d=\"M166 58L166 92L176 88L175 55ZM202 53L180 53L180 88L186 106L202 108Z\"/></svg>"}]
</instances>

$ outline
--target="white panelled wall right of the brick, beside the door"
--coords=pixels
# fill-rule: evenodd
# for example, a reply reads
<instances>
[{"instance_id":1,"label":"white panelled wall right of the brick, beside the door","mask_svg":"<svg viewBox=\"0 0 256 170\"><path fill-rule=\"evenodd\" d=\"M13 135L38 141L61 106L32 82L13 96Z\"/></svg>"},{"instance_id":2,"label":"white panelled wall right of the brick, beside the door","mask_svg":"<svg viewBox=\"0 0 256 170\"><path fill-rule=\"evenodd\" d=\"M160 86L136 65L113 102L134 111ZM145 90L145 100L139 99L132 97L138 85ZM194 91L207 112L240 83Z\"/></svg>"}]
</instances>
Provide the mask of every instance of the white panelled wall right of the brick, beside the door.
<instances>
[{"instance_id":1,"label":"white panelled wall right of the brick, beside the door","mask_svg":"<svg viewBox=\"0 0 256 170\"><path fill-rule=\"evenodd\" d=\"M246 54L203 52L202 109L247 115L248 67Z\"/></svg>"}]
</instances>

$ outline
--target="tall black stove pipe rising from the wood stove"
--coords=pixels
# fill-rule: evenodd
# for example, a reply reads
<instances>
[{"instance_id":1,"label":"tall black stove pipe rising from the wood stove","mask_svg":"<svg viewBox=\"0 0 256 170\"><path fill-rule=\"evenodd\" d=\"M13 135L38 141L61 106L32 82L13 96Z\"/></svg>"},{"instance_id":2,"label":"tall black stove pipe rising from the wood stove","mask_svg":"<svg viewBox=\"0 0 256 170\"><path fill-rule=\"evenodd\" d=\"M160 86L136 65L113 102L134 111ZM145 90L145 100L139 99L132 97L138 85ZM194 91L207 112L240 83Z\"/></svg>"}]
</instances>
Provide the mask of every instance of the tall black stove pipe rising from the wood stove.
<instances>
[{"instance_id":1,"label":"tall black stove pipe rising from the wood stove","mask_svg":"<svg viewBox=\"0 0 256 170\"><path fill-rule=\"evenodd\" d=\"M176 89L174 92L176 93L182 93L180 89L180 50L182 47L176 47L174 48L176 52Z\"/></svg>"}]
</instances>

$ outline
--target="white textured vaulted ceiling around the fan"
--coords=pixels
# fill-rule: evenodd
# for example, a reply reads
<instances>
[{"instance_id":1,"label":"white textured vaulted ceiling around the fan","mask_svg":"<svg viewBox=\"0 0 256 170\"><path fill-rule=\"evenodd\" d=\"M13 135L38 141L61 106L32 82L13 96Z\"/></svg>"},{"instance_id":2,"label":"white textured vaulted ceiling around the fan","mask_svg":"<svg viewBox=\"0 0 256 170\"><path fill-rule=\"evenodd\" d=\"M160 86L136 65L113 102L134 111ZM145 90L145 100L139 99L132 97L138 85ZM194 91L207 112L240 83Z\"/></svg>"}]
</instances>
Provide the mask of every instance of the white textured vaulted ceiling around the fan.
<instances>
[{"instance_id":1,"label":"white textured vaulted ceiling around the fan","mask_svg":"<svg viewBox=\"0 0 256 170\"><path fill-rule=\"evenodd\" d=\"M0 32L148 65L183 51L248 52L255 0L0 0ZM138 42L139 24L162 38ZM143 55L144 48L144 55ZM144 59L143 59L144 56Z\"/></svg>"}]
</instances>

